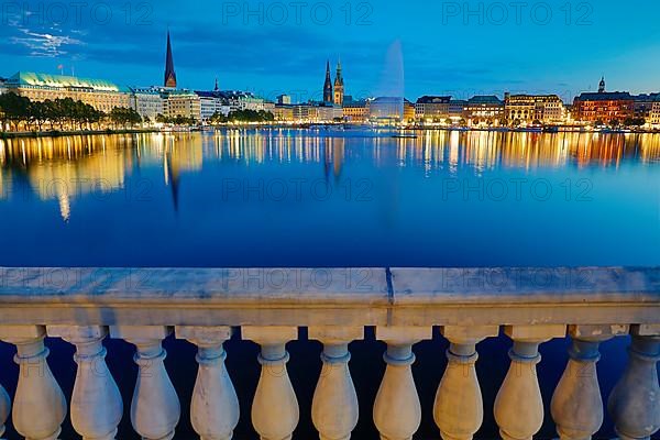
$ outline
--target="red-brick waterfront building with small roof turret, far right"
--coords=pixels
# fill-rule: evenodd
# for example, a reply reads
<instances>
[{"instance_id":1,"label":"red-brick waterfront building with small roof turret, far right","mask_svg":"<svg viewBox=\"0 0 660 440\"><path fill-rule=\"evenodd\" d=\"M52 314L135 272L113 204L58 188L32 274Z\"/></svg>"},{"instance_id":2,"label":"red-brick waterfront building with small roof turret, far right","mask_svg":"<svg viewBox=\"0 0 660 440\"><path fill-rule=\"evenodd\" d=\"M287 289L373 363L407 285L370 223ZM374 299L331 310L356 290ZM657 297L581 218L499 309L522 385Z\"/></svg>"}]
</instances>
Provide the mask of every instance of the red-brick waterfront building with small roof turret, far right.
<instances>
[{"instance_id":1,"label":"red-brick waterfront building with small roof turret, far right","mask_svg":"<svg viewBox=\"0 0 660 440\"><path fill-rule=\"evenodd\" d=\"M605 78L598 91L583 92L573 100L573 119L581 122L624 121L635 116L635 98L627 91L605 91Z\"/></svg>"}]
</instances>

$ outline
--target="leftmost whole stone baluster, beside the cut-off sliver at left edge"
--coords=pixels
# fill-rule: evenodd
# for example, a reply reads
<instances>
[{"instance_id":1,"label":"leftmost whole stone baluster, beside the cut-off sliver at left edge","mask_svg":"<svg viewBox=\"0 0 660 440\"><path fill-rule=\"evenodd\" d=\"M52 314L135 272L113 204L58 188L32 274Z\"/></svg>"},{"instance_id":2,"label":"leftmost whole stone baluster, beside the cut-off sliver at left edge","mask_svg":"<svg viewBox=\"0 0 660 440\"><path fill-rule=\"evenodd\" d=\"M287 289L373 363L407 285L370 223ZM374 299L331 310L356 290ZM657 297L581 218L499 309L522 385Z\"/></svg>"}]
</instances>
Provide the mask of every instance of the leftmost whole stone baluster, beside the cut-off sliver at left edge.
<instances>
[{"instance_id":1,"label":"leftmost whole stone baluster, beside the cut-off sliver at left edge","mask_svg":"<svg viewBox=\"0 0 660 440\"><path fill-rule=\"evenodd\" d=\"M45 337L43 326L0 327L0 340L16 345L19 385L12 421L28 440L57 439L66 417L66 399L46 362Z\"/></svg>"}]
</instances>

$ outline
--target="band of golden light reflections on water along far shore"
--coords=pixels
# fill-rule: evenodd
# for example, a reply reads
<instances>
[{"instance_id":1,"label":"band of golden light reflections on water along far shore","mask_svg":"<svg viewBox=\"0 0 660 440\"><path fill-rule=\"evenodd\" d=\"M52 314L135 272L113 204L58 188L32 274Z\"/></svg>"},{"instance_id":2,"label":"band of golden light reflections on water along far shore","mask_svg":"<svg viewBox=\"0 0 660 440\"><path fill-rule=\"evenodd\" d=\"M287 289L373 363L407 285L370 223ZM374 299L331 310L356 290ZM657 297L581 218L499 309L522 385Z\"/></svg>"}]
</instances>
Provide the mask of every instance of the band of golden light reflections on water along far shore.
<instances>
[{"instance_id":1,"label":"band of golden light reflections on water along far shore","mask_svg":"<svg viewBox=\"0 0 660 440\"><path fill-rule=\"evenodd\" d=\"M11 197L16 179L41 200L57 200L62 217L72 200L90 193L122 189L140 167L162 167L163 183L176 194L180 175L200 172L205 161L245 166L268 163L322 164L326 176L341 175L346 161L373 166L416 167L425 175L485 169L576 166L618 167L625 161L660 162L658 134L417 132L392 139L373 133L305 130L230 130L212 134L90 135L0 140L0 199Z\"/></svg>"}]
</instances>

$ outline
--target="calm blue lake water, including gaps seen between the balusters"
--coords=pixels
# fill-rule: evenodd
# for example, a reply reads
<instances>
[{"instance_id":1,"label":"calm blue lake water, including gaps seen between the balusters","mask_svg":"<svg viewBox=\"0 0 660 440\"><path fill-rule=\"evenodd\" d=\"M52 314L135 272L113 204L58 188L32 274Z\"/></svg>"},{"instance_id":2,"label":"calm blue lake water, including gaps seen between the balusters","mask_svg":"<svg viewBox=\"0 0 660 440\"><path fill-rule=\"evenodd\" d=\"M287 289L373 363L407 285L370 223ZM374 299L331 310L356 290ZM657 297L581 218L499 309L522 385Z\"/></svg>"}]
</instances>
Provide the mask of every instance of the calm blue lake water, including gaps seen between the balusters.
<instances>
[{"instance_id":1,"label":"calm blue lake water, including gaps seen between the balusters","mask_svg":"<svg viewBox=\"0 0 660 440\"><path fill-rule=\"evenodd\" d=\"M386 133L248 130L193 134L0 141L0 266L548 266L660 265L660 135L494 132ZM568 341L541 346L546 422ZM598 374L609 394L627 340L603 344ZM73 346L50 340L65 394ZM119 438L136 439L128 414L133 348L107 341L125 414ZM196 438L187 403L195 348L168 339L166 363L183 414L177 439ZM508 366L506 338L480 344L485 419ZM320 371L317 342L288 345L300 403L296 439L312 439ZM424 420L417 440L438 439L433 397L447 341L416 345ZM228 369L242 418L235 439L255 439L250 404L258 348L232 340ZM351 344L361 418L354 438L377 439L371 407L385 345ZM0 383L13 395L13 348L0 344ZM63 438L77 438L65 422ZM597 438L613 438L606 420ZM18 438L9 427L8 438Z\"/></svg>"}]
</instances>

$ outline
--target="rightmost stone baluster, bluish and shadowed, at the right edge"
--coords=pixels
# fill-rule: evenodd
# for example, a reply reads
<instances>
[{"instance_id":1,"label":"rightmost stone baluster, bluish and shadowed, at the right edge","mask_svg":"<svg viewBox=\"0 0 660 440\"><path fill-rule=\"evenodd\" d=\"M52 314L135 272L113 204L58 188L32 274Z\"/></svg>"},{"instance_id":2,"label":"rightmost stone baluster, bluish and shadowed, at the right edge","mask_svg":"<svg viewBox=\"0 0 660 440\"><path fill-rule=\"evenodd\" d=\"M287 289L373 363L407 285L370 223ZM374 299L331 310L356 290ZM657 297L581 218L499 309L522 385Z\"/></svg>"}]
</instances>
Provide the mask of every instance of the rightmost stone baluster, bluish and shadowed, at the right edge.
<instances>
[{"instance_id":1,"label":"rightmost stone baluster, bluish and shadowed, at the right edge","mask_svg":"<svg viewBox=\"0 0 660 440\"><path fill-rule=\"evenodd\" d=\"M650 439L660 430L660 326L634 326L624 375L609 395L608 409L622 440Z\"/></svg>"}]
</instances>

